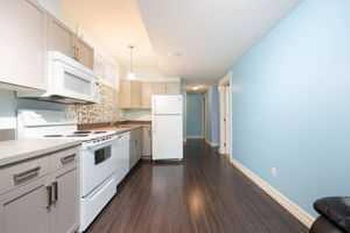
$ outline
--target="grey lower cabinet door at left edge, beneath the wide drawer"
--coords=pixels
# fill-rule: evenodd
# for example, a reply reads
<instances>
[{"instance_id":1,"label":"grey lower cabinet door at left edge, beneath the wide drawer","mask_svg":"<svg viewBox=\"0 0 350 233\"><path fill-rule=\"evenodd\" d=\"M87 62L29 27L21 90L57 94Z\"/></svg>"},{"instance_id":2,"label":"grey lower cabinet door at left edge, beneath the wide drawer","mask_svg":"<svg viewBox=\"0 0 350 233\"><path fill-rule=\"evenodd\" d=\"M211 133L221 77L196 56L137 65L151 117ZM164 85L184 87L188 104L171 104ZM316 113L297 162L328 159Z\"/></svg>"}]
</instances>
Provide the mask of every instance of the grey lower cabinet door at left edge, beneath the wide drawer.
<instances>
[{"instance_id":1,"label":"grey lower cabinet door at left edge, beneath the wide drawer","mask_svg":"<svg viewBox=\"0 0 350 233\"><path fill-rule=\"evenodd\" d=\"M41 179L0 196L0 232L50 232L48 194Z\"/></svg>"}]
</instances>

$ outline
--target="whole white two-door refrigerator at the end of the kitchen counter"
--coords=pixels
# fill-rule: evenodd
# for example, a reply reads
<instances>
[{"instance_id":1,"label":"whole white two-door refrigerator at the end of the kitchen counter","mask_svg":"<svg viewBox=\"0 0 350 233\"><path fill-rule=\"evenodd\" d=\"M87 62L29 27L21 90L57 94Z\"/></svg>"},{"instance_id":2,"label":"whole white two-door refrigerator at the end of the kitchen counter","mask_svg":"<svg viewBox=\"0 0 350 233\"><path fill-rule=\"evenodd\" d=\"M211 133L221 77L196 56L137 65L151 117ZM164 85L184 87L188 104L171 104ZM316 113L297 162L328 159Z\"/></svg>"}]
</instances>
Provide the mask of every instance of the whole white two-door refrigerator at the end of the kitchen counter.
<instances>
[{"instance_id":1,"label":"whole white two-door refrigerator at the end of the kitchen counter","mask_svg":"<svg viewBox=\"0 0 350 233\"><path fill-rule=\"evenodd\" d=\"M152 96L152 158L183 159L183 97Z\"/></svg>"}]
</instances>

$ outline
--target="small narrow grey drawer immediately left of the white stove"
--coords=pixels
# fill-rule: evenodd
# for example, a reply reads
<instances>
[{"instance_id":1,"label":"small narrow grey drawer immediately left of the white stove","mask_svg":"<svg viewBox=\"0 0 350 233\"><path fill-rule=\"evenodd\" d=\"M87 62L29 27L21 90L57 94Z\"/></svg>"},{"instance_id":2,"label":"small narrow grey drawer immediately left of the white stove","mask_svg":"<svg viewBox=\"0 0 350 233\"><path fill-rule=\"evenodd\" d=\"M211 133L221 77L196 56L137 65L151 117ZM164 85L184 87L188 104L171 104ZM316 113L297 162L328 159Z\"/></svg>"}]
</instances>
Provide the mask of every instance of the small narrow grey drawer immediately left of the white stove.
<instances>
[{"instance_id":1,"label":"small narrow grey drawer immediately left of the white stove","mask_svg":"<svg viewBox=\"0 0 350 233\"><path fill-rule=\"evenodd\" d=\"M72 169L76 167L78 161L78 147L70 148L67 150L59 151L52 156L52 170L57 171L59 169Z\"/></svg>"}]
</instances>

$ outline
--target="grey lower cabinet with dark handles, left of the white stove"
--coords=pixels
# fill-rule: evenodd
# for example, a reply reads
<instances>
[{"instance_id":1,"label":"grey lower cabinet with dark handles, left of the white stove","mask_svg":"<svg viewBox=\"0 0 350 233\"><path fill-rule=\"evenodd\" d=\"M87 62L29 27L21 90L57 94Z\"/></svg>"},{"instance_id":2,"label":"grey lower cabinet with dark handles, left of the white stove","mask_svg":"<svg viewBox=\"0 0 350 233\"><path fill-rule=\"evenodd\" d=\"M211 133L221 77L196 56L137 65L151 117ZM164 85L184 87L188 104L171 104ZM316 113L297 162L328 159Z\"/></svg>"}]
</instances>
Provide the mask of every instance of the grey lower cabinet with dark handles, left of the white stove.
<instances>
[{"instance_id":1,"label":"grey lower cabinet with dark handles, left of the white stove","mask_svg":"<svg viewBox=\"0 0 350 233\"><path fill-rule=\"evenodd\" d=\"M78 149L46 156L50 169L45 174L41 174L42 166L0 168L1 174L13 171L13 167L19 171L6 176L13 179L13 188L0 192L1 233L71 233L78 229ZM42 159L34 159L34 164L35 160Z\"/></svg>"}]
</instances>

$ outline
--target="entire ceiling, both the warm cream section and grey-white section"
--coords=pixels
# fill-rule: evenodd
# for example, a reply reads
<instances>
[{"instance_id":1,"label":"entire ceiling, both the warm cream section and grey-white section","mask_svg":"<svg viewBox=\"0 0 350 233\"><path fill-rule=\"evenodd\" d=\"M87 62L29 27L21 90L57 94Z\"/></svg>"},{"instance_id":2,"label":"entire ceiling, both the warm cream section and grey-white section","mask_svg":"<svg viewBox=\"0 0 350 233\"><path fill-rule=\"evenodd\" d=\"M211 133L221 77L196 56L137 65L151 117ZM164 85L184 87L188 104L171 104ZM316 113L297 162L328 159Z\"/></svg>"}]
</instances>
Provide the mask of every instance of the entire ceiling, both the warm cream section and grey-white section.
<instances>
[{"instance_id":1,"label":"entire ceiling, both the warm cream section and grey-white section","mask_svg":"<svg viewBox=\"0 0 350 233\"><path fill-rule=\"evenodd\" d=\"M299 0L62 0L66 17L127 64L213 83ZM154 70L154 69L152 69Z\"/></svg>"}]
</instances>

